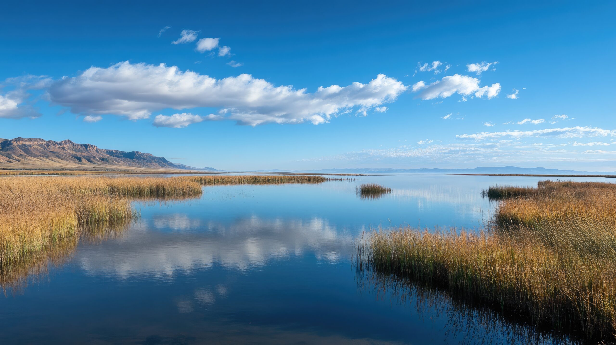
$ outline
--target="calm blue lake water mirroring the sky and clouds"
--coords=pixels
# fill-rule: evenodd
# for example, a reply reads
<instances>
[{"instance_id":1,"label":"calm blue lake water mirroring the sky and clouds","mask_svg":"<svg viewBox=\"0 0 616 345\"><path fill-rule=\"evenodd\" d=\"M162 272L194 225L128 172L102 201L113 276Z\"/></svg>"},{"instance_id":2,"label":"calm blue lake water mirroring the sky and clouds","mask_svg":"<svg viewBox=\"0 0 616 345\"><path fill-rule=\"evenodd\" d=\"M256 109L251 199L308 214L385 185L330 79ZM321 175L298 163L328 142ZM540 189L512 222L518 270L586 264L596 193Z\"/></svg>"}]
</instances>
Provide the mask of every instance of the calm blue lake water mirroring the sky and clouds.
<instances>
[{"instance_id":1,"label":"calm blue lake water mirroring the sky and clouds","mask_svg":"<svg viewBox=\"0 0 616 345\"><path fill-rule=\"evenodd\" d=\"M519 325L446 295L363 277L352 258L355 239L379 225L479 228L495 207L482 189L545 178L352 177L136 203L128 229L60 244L22 268L37 273L28 285L6 284L0 343L530 342ZM361 199L367 182L393 192Z\"/></svg>"}]
</instances>

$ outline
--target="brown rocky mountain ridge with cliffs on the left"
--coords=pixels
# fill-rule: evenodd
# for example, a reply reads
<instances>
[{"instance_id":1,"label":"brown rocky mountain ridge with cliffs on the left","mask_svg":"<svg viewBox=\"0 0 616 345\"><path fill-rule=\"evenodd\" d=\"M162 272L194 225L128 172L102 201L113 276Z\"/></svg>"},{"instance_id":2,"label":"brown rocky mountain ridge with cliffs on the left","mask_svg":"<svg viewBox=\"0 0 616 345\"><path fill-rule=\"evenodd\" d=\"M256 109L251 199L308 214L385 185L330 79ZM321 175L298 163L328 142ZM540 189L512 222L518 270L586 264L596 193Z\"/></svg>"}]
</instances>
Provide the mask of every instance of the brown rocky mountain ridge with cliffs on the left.
<instances>
[{"instance_id":1,"label":"brown rocky mountain ridge with cliffs on the left","mask_svg":"<svg viewBox=\"0 0 616 345\"><path fill-rule=\"evenodd\" d=\"M193 170L138 151L100 149L70 140L0 139L0 169L36 170ZM197 170L197 169L194 169Z\"/></svg>"}]
</instances>

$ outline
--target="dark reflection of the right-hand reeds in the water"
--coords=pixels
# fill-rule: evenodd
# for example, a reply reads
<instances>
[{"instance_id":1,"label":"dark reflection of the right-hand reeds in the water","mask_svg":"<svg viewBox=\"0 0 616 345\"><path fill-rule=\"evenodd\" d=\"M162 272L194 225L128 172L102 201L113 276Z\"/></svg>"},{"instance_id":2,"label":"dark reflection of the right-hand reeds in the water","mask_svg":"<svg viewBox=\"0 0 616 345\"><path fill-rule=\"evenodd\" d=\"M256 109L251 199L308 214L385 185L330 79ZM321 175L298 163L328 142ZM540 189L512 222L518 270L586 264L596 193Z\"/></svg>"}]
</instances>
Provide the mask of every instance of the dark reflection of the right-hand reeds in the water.
<instances>
[{"instance_id":1,"label":"dark reflection of the right-hand reeds in the water","mask_svg":"<svg viewBox=\"0 0 616 345\"><path fill-rule=\"evenodd\" d=\"M362 249L363 255L365 247ZM533 327L513 315L484 307L480 301L452 296L431 285L416 284L407 277L375 271L362 265L356 256L355 269L359 293L374 293L376 298L403 307L413 307L424 321L441 319L442 333L456 344L480 345L582 345L572 336L556 335L548 328Z\"/></svg>"}]
</instances>

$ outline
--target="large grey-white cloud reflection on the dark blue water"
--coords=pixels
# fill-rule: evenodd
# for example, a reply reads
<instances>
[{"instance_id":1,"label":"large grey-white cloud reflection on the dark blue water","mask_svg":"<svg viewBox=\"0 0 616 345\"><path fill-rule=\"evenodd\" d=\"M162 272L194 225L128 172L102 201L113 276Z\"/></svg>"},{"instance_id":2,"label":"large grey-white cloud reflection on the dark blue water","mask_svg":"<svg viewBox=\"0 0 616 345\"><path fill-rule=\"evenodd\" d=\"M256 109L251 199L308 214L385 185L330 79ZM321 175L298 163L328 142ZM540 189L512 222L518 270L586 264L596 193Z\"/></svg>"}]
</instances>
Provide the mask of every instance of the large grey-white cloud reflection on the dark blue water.
<instances>
[{"instance_id":1,"label":"large grey-white cloud reflection on the dark blue water","mask_svg":"<svg viewBox=\"0 0 616 345\"><path fill-rule=\"evenodd\" d=\"M337 262L350 257L354 244L351 232L338 230L321 218L262 220L253 216L231 224L191 220L180 214L163 218L156 216L152 225L164 228L172 224L175 229L185 226L183 229L192 231L146 231L144 220L121 240L83 248L76 258L79 265L92 273L121 278L171 277L177 270L214 265L247 270L306 253L314 253L317 260Z\"/></svg>"}]
</instances>

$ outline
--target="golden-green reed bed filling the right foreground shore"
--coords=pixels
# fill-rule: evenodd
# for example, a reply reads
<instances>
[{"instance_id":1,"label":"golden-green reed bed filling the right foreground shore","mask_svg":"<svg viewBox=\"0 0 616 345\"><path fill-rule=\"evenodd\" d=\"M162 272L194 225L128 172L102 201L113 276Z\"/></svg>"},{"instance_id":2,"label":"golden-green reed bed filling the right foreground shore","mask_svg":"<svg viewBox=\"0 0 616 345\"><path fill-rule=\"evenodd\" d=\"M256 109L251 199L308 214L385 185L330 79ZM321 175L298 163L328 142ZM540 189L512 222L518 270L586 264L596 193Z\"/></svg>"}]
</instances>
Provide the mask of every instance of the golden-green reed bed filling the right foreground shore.
<instances>
[{"instance_id":1,"label":"golden-green reed bed filling the right foreground shore","mask_svg":"<svg viewBox=\"0 0 616 345\"><path fill-rule=\"evenodd\" d=\"M534 325L613 341L616 184L542 181L492 191L501 198L492 227L378 229L359 243L358 263Z\"/></svg>"}]
</instances>

